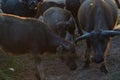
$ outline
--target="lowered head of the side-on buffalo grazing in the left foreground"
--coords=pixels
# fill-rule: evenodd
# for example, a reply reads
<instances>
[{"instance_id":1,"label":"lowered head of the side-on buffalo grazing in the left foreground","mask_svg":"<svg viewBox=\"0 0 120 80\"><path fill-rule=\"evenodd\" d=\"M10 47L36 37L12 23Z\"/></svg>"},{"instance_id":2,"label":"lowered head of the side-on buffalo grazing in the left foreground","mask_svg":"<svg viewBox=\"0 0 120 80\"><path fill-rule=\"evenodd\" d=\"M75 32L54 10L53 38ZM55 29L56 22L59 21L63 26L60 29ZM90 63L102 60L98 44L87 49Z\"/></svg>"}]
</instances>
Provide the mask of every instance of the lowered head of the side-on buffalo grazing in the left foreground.
<instances>
[{"instance_id":1,"label":"lowered head of the side-on buffalo grazing in the left foreground","mask_svg":"<svg viewBox=\"0 0 120 80\"><path fill-rule=\"evenodd\" d=\"M57 48L57 54L62 62L65 62L65 64L70 68L70 70L75 70L77 68L77 64L75 62L77 55L74 45L63 44L59 46Z\"/></svg>"}]
</instances>

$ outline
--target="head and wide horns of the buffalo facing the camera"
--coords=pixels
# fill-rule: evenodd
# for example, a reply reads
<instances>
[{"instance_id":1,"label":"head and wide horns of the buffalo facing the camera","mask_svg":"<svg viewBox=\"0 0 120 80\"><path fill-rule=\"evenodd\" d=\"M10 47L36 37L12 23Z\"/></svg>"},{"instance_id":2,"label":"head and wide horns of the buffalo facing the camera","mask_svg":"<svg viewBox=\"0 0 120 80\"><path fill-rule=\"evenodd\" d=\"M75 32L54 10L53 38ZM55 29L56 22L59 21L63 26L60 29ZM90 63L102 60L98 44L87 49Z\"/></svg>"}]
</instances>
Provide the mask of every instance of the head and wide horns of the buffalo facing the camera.
<instances>
[{"instance_id":1,"label":"head and wide horns of the buffalo facing the camera","mask_svg":"<svg viewBox=\"0 0 120 80\"><path fill-rule=\"evenodd\" d=\"M91 43L94 54L92 56L92 61L96 63L100 63L104 61L104 53L107 51L109 47L110 37L120 35L120 31L115 30L102 30L98 32L83 32L82 36L76 38L75 42L79 40L86 39Z\"/></svg>"}]
</instances>

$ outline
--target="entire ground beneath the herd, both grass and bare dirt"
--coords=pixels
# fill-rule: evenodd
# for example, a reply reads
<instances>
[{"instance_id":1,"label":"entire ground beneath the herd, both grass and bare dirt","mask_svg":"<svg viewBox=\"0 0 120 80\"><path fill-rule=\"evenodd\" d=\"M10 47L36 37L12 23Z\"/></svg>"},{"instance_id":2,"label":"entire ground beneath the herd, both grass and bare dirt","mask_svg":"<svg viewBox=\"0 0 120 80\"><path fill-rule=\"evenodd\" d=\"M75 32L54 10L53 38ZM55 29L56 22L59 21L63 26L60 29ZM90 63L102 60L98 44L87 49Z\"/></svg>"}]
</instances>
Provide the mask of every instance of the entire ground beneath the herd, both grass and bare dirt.
<instances>
[{"instance_id":1,"label":"entire ground beneath the herd, both grass and bare dirt","mask_svg":"<svg viewBox=\"0 0 120 80\"><path fill-rule=\"evenodd\" d=\"M108 74L100 72L100 64L92 63L89 68L83 68L85 48L85 41L76 47L79 58L75 71L70 71L55 55L43 55L46 80L120 80L120 36L111 39L107 55ZM36 80L34 73L30 54L12 56L0 52L0 80Z\"/></svg>"}]
</instances>

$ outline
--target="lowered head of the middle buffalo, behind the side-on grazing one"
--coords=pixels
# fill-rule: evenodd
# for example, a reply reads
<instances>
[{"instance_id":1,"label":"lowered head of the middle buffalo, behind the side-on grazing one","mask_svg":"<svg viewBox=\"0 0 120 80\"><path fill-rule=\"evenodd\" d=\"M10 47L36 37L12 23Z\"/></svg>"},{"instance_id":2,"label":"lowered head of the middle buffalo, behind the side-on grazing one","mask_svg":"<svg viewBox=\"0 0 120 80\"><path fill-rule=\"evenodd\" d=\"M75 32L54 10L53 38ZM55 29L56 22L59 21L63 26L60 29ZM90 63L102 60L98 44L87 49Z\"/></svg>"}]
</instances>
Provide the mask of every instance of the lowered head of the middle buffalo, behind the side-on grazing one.
<instances>
[{"instance_id":1,"label":"lowered head of the middle buffalo, behind the side-on grazing one","mask_svg":"<svg viewBox=\"0 0 120 80\"><path fill-rule=\"evenodd\" d=\"M73 18L71 17L67 22L58 22L57 23L57 33L58 35L60 35L61 37L65 38L66 40L74 43L74 27L75 23Z\"/></svg>"}]
</instances>

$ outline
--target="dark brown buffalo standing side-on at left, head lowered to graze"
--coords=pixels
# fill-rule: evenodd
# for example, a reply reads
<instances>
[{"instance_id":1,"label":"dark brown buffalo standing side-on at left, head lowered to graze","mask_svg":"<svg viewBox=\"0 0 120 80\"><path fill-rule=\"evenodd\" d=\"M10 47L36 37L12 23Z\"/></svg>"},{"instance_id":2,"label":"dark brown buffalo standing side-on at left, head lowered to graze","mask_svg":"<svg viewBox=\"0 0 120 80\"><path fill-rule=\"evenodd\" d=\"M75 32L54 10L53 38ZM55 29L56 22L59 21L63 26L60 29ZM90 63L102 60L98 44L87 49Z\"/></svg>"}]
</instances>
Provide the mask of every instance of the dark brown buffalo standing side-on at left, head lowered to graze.
<instances>
[{"instance_id":1,"label":"dark brown buffalo standing side-on at left, head lowered to graze","mask_svg":"<svg viewBox=\"0 0 120 80\"><path fill-rule=\"evenodd\" d=\"M12 54L32 53L39 80L44 80L43 65L40 64L40 55L44 52L57 52L70 70L77 68L75 46L37 19L1 13L0 46Z\"/></svg>"}]
</instances>

